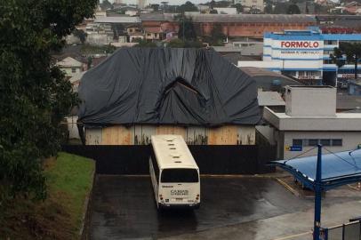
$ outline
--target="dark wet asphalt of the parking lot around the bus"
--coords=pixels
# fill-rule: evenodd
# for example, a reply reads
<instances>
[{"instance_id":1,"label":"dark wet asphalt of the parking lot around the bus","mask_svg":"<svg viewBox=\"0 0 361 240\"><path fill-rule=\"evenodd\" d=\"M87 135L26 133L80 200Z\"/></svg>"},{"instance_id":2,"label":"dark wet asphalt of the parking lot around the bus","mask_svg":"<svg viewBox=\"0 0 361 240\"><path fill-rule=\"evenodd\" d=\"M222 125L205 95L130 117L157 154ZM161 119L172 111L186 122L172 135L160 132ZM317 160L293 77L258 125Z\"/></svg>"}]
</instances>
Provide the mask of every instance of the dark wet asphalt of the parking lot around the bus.
<instances>
[{"instance_id":1,"label":"dark wet asphalt of the parking lot around the bus","mask_svg":"<svg viewBox=\"0 0 361 240\"><path fill-rule=\"evenodd\" d=\"M99 175L91 239L158 238L267 219L312 206L269 178L201 178L201 207L158 213L149 177Z\"/></svg>"}]
</instances>

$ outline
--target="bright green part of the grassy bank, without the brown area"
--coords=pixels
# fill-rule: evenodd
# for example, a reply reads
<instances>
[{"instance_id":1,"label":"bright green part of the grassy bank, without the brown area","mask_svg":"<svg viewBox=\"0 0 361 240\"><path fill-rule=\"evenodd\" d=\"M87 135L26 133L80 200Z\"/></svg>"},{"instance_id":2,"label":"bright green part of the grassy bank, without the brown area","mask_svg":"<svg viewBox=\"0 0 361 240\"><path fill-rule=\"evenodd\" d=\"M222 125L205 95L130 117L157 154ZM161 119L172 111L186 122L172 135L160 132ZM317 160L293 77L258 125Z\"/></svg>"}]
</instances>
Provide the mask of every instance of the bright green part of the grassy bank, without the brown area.
<instances>
[{"instance_id":1,"label":"bright green part of the grassy bank, without the brown area","mask_svg":"<svg viewBox=\"0 0 361 240\"><path fill-rule=\"evenodd\" d=\"M93 161L82 156L61 152L55 161L45 170L49 194L65 193L62 204L70 213L70 220L76 232L83 219L84 201L92 188Z\"/></svg>"}]
</instances>

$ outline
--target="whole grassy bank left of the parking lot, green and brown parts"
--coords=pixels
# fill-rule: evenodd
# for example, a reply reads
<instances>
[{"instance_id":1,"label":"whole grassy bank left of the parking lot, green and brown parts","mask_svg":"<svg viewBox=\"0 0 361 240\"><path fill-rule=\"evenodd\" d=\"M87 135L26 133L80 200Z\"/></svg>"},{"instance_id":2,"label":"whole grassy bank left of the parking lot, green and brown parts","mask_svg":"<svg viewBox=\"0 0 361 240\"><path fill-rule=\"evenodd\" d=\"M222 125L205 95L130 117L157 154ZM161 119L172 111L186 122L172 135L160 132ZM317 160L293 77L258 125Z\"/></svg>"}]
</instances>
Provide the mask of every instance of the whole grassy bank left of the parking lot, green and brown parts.
<instances>
[{"instance_id":1,"label":"whole grassy bank left of the parking lot, green and brown parts","mask_svg":"<svg viewBox=\"0 0 361 240\"><path fill-rule=\"evenodd\" d=\"M0 240L78 240L94 171L94 161L82 156L60 153L46 160L46 200L18 196L6 202L0 212Z\"/></svg>"}]
</instances>

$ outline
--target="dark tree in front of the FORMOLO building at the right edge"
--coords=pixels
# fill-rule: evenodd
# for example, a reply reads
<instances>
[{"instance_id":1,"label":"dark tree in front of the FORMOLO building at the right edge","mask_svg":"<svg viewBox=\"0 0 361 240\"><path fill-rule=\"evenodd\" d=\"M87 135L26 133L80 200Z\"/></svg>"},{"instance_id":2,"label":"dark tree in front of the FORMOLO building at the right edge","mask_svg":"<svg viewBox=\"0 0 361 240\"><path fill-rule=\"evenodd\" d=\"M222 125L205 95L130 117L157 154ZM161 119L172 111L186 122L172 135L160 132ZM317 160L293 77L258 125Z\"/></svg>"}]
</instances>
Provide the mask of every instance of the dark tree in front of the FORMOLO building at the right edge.
<instances>
[{"instance_id":1,"label":"dark tree in front of the FORMOLO building at the right edge","mask_svg":"<svg viewBox=\"0 0 361 240\"><path fill-rule=\"evenodd\" d=\"M340 47L335 47L330 57L339 68L347 63L353 63L355 65L355 79L357 79L357 63L361 59L361 44L341 42Z\"/></svg>"}]
</instances>

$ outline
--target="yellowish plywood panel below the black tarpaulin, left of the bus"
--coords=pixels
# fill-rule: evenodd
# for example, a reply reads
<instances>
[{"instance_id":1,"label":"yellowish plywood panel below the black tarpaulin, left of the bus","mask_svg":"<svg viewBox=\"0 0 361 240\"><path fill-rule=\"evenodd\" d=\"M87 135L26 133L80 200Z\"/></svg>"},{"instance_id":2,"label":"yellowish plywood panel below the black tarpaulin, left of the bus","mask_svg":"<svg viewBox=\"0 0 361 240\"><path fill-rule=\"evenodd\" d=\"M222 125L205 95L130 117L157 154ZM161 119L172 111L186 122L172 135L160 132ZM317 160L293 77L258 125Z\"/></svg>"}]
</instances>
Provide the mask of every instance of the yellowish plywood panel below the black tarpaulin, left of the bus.
<instances>
[{"instance_id":1,"label":"yellowish plywood panel below the black tarpaulin, left of the bus","mask_svg":"<svg viewBox=\"0 0 361 240\"><path fill-rule=\"evenodd\" d=\"M102 145L132 145L133 134L133 127L116 125L103 128Z\"/></svg>"}]
</instances>

